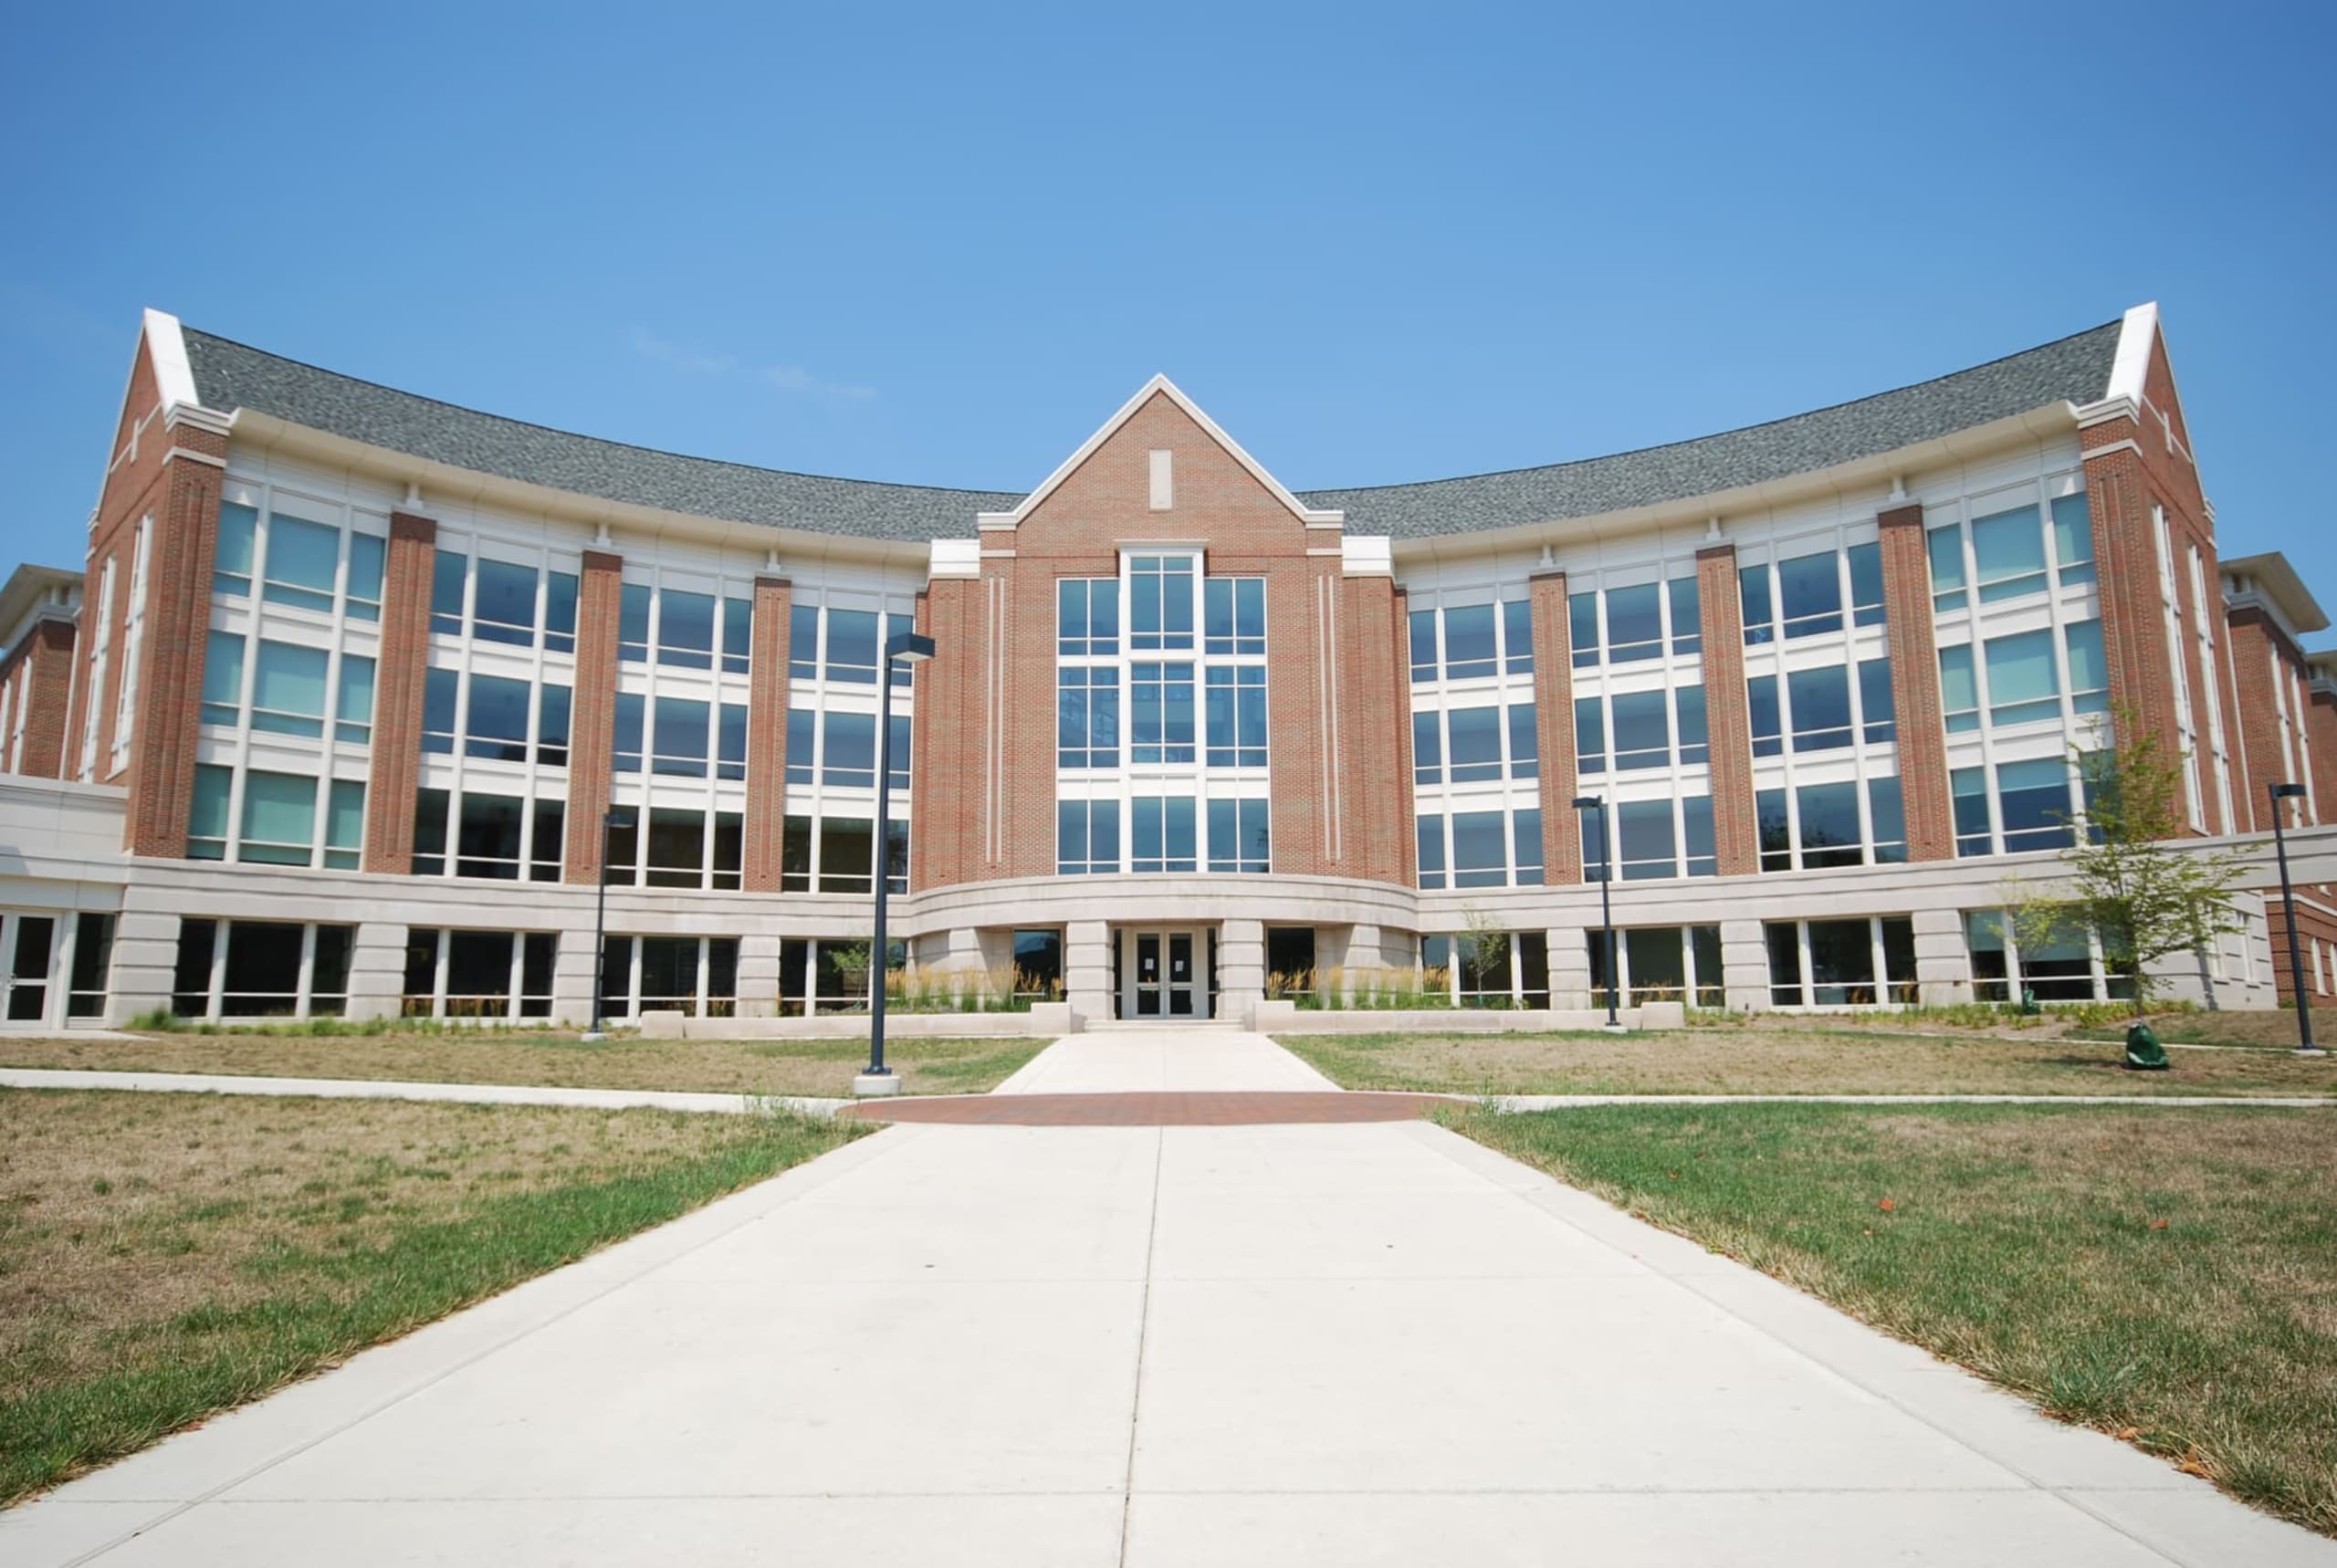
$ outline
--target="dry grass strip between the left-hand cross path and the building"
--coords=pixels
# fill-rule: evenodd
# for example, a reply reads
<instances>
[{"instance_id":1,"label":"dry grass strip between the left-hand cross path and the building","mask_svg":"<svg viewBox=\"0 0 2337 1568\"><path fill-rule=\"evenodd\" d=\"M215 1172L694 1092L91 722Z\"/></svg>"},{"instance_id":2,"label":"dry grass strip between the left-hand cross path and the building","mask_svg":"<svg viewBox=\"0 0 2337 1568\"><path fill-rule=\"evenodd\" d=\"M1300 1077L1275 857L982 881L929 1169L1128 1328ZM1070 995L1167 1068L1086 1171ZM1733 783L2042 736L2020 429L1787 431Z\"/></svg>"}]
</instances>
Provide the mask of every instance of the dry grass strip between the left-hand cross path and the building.
<instances>
[{"instance_id":1,"label":"dry grass strip between the left-hand cross path and the building","mask_svg":"<svg viewBox=\"0 0 2337 1568\"><path fill-rule=\"evenodd\" d=\"M907 1094L986 1094L1047 1040L886 1040ZM696 1089L844 1098L867 1040L594 1040L561 1033L0 1038L0 1066L103 1073L388 1077L432 1084Z\"/></svg>"}]
</instances>

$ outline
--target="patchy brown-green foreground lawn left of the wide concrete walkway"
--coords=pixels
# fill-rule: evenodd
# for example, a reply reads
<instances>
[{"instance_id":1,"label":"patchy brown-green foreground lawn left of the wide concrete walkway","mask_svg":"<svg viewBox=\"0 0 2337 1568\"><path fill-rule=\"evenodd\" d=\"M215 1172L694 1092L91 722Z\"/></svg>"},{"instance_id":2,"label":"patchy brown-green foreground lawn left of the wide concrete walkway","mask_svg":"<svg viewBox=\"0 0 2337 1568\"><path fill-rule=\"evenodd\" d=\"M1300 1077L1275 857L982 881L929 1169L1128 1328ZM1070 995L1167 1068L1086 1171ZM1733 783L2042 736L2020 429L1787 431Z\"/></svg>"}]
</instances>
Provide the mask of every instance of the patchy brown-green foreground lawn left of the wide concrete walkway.
<instances>
[{"instance_id":1,"label":"patchy brown-green foreground lawn left of the wide concrete walkway","mask_svg":"<svg viewBox=\"0 0 2337 1568\"><path fill-rule=\"evenodd\" d=\"M0 1505L862 1131L0 1089Z\"/></svg>"}]
</instances>

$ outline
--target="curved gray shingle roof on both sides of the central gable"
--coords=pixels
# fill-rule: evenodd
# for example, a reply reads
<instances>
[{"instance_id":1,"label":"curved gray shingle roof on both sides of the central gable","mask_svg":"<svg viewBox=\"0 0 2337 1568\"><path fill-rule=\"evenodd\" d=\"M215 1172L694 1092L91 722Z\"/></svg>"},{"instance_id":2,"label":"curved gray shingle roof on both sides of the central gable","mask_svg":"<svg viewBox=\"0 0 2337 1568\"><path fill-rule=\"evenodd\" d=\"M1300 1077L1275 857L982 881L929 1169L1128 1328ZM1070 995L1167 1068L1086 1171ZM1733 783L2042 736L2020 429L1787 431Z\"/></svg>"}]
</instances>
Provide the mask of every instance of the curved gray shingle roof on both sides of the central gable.
<instances>
[{"instance_id":1,"label":"curved gray shingle roof on both sides of the central gable","mask_svg":"<svg viewBox=\"0 0 2337 1568\"><path fill-rule=\"evenodd\" d=\"M1344 509L1353 533L1435 537L1734 491L2054 402L2094 402L2110 386L2117 332L2113 320L1937 381L1671 446L1500 474L1313 491L1299 500ZM257 409L353 442L580 495L872 540L968 537L975 512L1012 512L1021 502L998 491L823 479L685 458L477 414L194 327L185 337L194 388L208 409Z\"/></svg>"}]
</instances>

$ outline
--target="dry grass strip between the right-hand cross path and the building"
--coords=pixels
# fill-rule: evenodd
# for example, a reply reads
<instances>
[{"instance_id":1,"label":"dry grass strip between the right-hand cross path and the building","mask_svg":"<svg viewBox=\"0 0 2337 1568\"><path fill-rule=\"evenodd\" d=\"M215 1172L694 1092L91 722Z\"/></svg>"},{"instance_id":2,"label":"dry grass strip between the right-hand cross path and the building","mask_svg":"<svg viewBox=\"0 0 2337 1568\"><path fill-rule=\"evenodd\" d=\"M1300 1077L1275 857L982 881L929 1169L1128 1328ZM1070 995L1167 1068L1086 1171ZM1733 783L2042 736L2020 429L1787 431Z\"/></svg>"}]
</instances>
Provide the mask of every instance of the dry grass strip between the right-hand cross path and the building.
<instances>
[{"instance_id":1,"label":"dry grass strip between the right-hand cross path and the building","mask_svg":"<svg viewBox=\"0 0 2337 1568\"><path fill-rule=\"evenodd\" d=\"M2129 1073L2115 1042L1884 1035L1828 1026L1643 1035L1281 1035L1344 1089L1440 1094L2309 1094L2337 1096L2337 1059L2171 1052Z\"/></svg>"}]
</instances>

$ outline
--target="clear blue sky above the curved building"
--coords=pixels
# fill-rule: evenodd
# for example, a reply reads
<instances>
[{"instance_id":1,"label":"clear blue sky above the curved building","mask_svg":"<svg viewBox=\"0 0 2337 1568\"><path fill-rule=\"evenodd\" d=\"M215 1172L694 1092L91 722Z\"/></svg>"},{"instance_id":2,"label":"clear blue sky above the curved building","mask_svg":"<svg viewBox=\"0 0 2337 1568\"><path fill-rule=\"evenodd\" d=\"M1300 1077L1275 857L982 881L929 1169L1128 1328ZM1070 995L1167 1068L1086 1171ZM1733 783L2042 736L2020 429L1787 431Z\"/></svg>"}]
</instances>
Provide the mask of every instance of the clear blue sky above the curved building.
<instances>
[{"instance_id":1,"label":"clear blue sky above the curved building","mask_svg":"<svg viewBox=\"0 0 2337 1568\"><path fill-rule=\"evenodd\" d=\"M150 304L547 425L977 488L1161 369L1318 488L1704 435L2159 299L2225 554L2337 608L2328 7L330 9L19 14L0 554L79 558Z\"/></svg>"}]
</instances>

